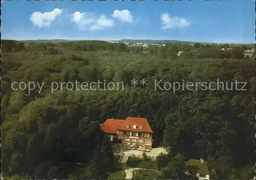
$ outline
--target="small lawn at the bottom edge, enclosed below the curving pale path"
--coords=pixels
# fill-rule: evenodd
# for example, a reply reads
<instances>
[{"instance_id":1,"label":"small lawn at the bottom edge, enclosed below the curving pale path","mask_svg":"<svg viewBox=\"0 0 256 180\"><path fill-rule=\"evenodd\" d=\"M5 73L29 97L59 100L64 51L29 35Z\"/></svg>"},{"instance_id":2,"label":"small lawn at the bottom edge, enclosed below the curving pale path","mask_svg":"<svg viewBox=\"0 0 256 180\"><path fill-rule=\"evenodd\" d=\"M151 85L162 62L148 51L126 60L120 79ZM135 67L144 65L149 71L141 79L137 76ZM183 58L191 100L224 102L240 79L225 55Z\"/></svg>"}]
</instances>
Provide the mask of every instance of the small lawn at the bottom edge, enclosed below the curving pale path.
<instances>
[{"instance_id":1,"label":"small lawn at the bottom edge, enclosed below the curving pale path","mask_svg":"<svg viewBox=\"0 0 256 180\"><path fill-rule=\"evenodd\" d=\"M161 172L154 170L139 169L133 171L133 179L158 179Z\"/></svg>"}]
</instances>

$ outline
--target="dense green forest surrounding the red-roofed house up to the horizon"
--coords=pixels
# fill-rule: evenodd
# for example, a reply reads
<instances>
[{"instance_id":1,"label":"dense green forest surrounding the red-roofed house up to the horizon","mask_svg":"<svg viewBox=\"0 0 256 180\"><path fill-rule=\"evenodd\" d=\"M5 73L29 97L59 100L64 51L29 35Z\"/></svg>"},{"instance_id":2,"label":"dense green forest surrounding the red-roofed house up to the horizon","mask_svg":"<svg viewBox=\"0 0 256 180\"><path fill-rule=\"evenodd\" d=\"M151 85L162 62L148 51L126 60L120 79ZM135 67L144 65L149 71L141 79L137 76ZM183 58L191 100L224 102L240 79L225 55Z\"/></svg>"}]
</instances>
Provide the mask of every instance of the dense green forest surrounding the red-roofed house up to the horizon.
<instances>
[{"instance_id":1,"label":"dense green forest surrounding the red-roofed house up to the horizon","mask_svg":"<svg viewBox=\"0 0 256 180\"><path fill-rule=\"evenodd\" d=\"M105 41L13 40L2 40L1 45L5 179L106 179L114 164L113 150L99 124L112 117L138 116L157 129L169 148L160 167L162 178L183 177L174 163L180 155L182 161L204 158L211 164L212 179L254 177L256 54L244 56L247 46L222 51L229 45L168 43L142 48ZM146 79L148 84L133 86L133 79ZM155 91L155 79L237 80L247 82L247 91ZM51 93L51 82L76 80L123 82L125 88ZM14 91L13 82L45 85L40 93L37 88L28 93ZM91 173L77 177L72 163L90 164Z\"/></svg>"}]
</instances>

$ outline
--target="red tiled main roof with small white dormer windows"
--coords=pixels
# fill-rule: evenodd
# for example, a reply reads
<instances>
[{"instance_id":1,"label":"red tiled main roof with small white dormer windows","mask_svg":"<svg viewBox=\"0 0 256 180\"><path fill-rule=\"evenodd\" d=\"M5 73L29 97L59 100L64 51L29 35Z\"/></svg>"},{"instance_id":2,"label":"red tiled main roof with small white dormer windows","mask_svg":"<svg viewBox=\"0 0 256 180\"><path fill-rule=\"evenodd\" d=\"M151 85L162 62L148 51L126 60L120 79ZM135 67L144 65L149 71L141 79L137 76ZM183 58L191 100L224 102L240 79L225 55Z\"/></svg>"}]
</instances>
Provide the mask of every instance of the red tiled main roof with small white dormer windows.
<instances>
[{"instance_id":1,"label":"red tiled main roof with small white dormer windows","mask_svg":"<svg viewBox=\"0 0 256 180\"><path fill-rule=\"evenodd\" d=\"M137 125L137 128L134 129L133 125ZM130 127L127 128L127 125ZM140 129L140 126L142 126L142 129ZM145 118L132 118L127 117L124 122L117 128L119 130L131 130L131 131L137 131L137 132L151 132L153 133L150 124L148 124L147 120Z\"/></svg>"}]
</instances>

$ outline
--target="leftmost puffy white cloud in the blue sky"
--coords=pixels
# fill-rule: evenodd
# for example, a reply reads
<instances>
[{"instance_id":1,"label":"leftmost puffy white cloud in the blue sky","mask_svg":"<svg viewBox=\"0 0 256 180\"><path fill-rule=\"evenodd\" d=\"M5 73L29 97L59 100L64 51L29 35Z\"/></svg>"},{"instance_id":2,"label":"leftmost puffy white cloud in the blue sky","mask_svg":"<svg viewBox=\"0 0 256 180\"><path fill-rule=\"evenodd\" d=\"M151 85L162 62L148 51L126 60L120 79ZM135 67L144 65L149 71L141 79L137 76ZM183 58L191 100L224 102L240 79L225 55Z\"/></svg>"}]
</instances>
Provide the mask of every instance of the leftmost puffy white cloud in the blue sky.
<instances>
[{"instance_id":1,"label":"leftmost puffy white cloud in the blue sky","mask_svg":"<svg viewBox=\"0 0 256 180\"><path fill-rule=\"evenodd\" d=\"M60 15L62 10L56 8L51 12L33 12L30 16L30 20L33 22L35 26L48 27L51 26L52 21L55 20L56 16Z\"/></svg>"}]
</instances>

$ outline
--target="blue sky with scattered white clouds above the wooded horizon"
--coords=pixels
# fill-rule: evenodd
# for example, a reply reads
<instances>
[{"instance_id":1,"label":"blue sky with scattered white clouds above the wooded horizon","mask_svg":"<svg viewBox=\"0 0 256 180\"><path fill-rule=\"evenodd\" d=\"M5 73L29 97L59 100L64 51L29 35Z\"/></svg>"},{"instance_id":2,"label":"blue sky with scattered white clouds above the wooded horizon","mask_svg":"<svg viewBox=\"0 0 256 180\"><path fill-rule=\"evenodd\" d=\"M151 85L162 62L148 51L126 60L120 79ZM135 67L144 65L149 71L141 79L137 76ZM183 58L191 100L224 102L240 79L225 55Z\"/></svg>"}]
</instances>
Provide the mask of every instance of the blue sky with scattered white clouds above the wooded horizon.
<instances>
[{"instance_id":1,"label":"blue sky with scattered white clouds above the wooded horizon","mask_svg":"<svg viewBox=\"0 0 256 180\"><path fill-rule=\"evenodd\" d=\"M254 0L5 1L2 39L255 43Z\"/></svg>"}]
</instances>

